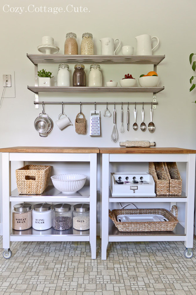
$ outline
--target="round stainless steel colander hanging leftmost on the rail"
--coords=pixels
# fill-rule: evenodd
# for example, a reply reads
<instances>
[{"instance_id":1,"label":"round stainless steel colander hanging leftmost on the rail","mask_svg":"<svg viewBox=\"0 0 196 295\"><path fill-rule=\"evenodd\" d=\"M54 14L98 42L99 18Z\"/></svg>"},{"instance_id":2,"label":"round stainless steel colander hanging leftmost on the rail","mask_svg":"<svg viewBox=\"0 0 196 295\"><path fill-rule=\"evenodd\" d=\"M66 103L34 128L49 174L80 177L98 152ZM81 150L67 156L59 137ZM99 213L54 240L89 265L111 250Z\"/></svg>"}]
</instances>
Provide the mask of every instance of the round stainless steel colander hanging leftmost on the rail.
<instances>
[{"instance_id":1,"label":"round stainless steel colander hanging leftmost on the rail","mask_svg":"<svg viewBox=\"0 0 196 295\"><path fill-rule=\"evenodd\" d=\"M35 130L39 132L41 137L48 136L53 128L53 122L46 113L40 113L34 121Z\"/></svg>"}]
</instances>

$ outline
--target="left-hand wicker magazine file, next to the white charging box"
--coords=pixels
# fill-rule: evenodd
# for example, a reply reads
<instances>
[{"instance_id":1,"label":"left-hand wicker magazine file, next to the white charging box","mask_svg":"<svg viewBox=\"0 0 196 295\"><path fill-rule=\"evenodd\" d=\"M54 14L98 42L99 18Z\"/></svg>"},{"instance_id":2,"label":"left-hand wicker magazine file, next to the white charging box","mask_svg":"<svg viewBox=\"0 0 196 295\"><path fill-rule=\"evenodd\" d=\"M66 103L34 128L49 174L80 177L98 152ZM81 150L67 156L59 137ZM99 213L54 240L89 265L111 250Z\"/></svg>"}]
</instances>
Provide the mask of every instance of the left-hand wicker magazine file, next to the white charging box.
<instances>
[{"instance_id":1,"label":"left-hand wicker magazine file, next to the white charging box","mask_svg":"<svg viewBox=\"0 0 196 295\"><path fill-rule=\"evenodd\" d=\"M163 162L149 162L149 173L155 181L157 195L169 195L169 179Z\"/></svg>"}]
</instances>

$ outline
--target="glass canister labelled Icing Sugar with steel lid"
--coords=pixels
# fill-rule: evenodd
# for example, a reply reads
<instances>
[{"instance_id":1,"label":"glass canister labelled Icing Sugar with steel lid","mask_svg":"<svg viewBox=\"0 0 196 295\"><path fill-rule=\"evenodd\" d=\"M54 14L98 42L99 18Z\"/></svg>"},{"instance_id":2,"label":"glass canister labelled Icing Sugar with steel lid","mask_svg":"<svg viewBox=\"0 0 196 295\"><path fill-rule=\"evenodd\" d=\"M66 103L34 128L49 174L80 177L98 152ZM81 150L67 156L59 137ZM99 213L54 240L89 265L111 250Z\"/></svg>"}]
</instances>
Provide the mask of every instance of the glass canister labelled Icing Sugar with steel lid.
<instances>
[{"instance_id":1,"label":"glass canister labelled Icing Sugar with steel lid","mask_svg":"<svg viewBox=\"0 0 196 295\"><path fill-rule=\"evenodd\" d=\"M48 203L34 205L32 211L32 227L35 230L48 230L52 227L52 210Z\"/></svg>"}]
</instances>

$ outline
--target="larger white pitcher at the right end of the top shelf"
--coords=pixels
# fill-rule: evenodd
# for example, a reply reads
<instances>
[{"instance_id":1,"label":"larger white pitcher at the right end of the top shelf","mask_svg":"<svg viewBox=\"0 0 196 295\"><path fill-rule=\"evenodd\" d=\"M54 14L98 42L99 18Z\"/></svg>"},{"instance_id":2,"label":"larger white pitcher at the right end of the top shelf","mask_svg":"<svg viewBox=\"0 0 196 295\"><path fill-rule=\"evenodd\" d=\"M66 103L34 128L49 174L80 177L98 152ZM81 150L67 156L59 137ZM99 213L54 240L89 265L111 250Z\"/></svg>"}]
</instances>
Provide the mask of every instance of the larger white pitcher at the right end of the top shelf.
<instances>
[{"instance_id":1,"label":"larger white pitcher at the right end of the top shelf","mask_svg":"<svg viewBox=\"0 0 196 295\"><path fill-rule=\"evenodd\" d=\"M151 37L150 35L144 34L135 37L137 40L137 55L152 55L152 50L154 50L159 45L159 39L156 36ZM152 39L156 39L157 44L152 48Z\"/></svg>"}]
</instances>

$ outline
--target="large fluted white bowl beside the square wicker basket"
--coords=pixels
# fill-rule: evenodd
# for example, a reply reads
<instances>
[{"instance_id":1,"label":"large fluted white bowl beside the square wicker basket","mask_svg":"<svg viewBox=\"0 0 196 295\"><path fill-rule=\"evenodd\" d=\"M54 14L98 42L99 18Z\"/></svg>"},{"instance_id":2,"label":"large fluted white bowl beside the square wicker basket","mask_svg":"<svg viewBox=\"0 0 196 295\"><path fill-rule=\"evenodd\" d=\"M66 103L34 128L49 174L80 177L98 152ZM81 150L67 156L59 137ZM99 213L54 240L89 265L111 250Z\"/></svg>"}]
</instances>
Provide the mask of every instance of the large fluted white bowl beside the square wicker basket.
<instances>
[{"instance_id":1,"label":"large fluted white bowl beside the square wicker basket","mask_svg":"<svg viewBox=\"0 0 196 295\"><path fill-rule=\"evenodd\" d=\"M58 174L50 177L57 190L65 194L73 194L80 190L87 179L84 174Z\"/></svg>"}]
</instances>

